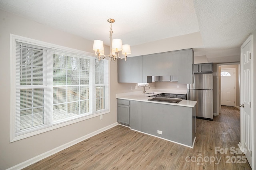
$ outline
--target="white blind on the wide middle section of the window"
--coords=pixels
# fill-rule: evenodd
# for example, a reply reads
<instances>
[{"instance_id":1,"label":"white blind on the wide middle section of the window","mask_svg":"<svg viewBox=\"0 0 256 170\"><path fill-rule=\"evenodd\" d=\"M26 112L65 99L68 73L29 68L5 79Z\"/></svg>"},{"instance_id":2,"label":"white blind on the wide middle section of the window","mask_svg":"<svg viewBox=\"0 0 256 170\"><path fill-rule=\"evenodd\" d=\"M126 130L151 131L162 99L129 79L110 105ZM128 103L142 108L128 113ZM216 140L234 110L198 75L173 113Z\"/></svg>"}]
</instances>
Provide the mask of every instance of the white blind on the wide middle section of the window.
<instances>
[{"instance_id":1,"label":"white blind on the wide middle section of the window","mask_svg":"<svg viewBox=\"0 0 256 170\"><path fill-rule=\"evenodd\" d=\"M90 58L54 51L53 121L90 113Z\"/></svg>"}]
</instances>

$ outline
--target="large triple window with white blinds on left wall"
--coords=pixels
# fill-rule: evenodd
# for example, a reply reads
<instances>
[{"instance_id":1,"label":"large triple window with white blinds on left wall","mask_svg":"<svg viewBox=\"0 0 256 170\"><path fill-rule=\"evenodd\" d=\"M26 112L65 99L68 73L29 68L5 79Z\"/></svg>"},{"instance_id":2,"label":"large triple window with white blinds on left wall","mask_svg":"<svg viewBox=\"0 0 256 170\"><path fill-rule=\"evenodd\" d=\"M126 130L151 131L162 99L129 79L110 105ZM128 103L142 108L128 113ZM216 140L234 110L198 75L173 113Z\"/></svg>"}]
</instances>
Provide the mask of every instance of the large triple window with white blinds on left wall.
<instances>
[{"instance_id":1,"label":"large triple window with white blinds on left wall","mask_svg":"<svg viewBox=\"0 0 256 170\"><path fill-rule=\"evenodd\" d=\"M22 40L15 49L14 141L108 111L108 60Z\"/></svg>"}]
</instances>

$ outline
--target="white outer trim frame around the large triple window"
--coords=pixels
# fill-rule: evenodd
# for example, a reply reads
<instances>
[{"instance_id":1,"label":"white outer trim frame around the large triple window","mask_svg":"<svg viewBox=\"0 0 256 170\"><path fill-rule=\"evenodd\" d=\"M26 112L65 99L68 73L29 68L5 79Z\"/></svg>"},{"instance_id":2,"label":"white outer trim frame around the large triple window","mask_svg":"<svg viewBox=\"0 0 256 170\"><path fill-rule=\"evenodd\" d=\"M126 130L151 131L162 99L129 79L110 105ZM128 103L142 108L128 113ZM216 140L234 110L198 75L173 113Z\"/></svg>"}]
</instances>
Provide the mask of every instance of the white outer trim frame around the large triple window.
<instances>
[{"instance_id":1,"label":"white outer trim frame around the large triple window","mask_svg":"<svg viewBox=\"0 0 256 170\"><path fill-rule=\"evenodd\" d=\"M106 93L108 95L105 97L105 99L107 100L107 102L106 102L107 108L105 108L103 111L102 110L95 111L90 115L85 114L81 117L74 118L72 120L62 121L61 123L56 123L54 125L50 125L49 127L45 127L43 129L38 129L37 130L37 128L35 128L35 131L24 133L22 135L16 135L16 126L15 126L16 125L16 123L15 123L16 122L16 40L20 40L20 41L23 41L23 42L28 42L29 44L39 45L39 46L46 47L46 48L63 50L65 52L77 54L80 57L83 57L83 56L87 57L88 56L88 57L91 58L91 60L94 59L94 58L97 59L93 53L88 53L88 52L80 51L80 50L77 50L77 49L72 49L72 48L68 48L68 47L64 47L64 46L60 46L60 45L55 45L55 44L46 43L46 42L43 42L43 41L38 41L38 40L35 40L35 39L22 37L22 36L19 36L19 35L10 34L10 143L14 142L14 141L18 141L20 139L31 137L31 136L34 136L34 135L38 135L40 133L51 131L53 129L57 129L57 128L64 127L64 126L67 126L67 125L71 125L73 123L84 121L84 120L90 119L92 117L97 117L97 116L100 116L100 115L103 115L103 114L106 114L106 113L110 113L110 86L109 86L109 82L110 82L110 62L105 59L104 61L107 61L106 62L107 63L107 68L104 71L106 71L108 69L108 77L107 77L108 80L106 80L106 83L108 84L108 91ZM44 72L44 74L45 74L45 72ZM94 86L97 86L97 85L94 84Z\"/></svg>"}]
</instances>

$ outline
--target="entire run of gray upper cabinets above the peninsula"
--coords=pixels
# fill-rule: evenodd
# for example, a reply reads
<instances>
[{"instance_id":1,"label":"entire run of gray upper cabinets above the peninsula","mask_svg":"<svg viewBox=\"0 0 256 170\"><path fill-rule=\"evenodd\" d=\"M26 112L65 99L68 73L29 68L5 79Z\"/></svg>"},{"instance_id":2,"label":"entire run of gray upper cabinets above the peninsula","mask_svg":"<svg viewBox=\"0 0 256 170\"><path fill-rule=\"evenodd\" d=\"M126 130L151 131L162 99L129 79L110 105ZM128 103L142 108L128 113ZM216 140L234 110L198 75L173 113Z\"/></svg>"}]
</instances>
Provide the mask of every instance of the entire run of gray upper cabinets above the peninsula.
<instances>
[{"instance_id":1,"label":"entire run of gray upper cabinets above the peninsula","mask_svg":"<svg viewBox=\"0 0 256 170\"><path fill-rule=\"evenodd\" d=\"M127 61L118 59L118 82L149 83L152 76L162 76L162 81L192 84L193 62L193 49L128 57Z\"/></svg>"}]
</instances>

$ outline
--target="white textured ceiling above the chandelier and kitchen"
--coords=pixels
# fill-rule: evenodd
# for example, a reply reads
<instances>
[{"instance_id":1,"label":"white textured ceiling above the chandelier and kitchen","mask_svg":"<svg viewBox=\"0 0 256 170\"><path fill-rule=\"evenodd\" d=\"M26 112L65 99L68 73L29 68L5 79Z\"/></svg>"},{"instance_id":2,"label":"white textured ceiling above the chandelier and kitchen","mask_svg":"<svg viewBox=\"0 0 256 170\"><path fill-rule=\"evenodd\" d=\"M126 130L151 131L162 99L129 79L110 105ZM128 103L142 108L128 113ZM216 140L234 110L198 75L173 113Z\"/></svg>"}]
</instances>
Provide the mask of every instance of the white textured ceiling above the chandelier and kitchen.
<instances>
[{"instance_id":1,"label":"white textured ceiling above the chandelier and kitchen","mask_svg":"<svg viewBox=\"0 0 256 170\"><path fill-rule=\"evenodd\" d=\"M239 61L240 46L256 30L256 0L0 0L0 9L56 29L123 44L141 45L200 32L195 56Z\"/></svg>"}]
</instances>

